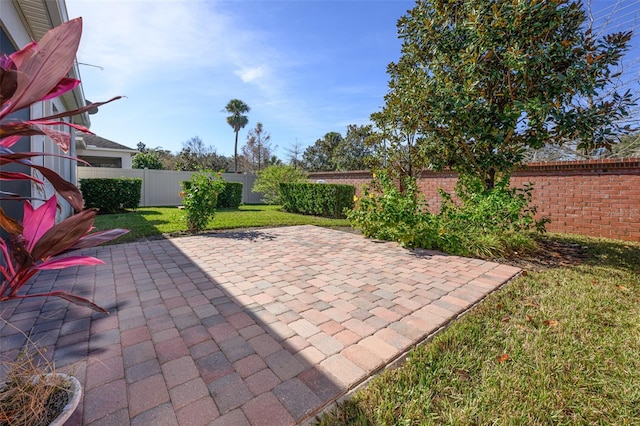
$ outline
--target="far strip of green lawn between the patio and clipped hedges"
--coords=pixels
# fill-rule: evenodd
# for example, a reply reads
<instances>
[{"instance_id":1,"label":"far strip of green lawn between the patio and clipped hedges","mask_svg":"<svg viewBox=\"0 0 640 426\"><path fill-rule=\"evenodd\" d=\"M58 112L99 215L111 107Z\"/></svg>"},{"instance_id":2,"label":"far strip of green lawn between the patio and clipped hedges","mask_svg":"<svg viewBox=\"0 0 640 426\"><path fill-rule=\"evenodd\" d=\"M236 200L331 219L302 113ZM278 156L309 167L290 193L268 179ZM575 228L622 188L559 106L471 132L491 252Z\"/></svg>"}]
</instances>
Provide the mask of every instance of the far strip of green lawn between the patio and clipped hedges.
<instances>
[{"instance_id":1,"label":"far strip of green lawn between the patio and clipped hedges","mask_svg":"<svg viewBox=\"0 0 640 426\"><path fill-rule=\"evenodd\" d=\"M135 241L163 234L187 232L184 210L176 207L145 207L134 212L99 215L96 230L129 229L129 233L112 244ZM208 231L236 228L270 227L283 225L317 225L325 227L349 226L346 219L328 219L286 213L280 206L246 205L238 210L218 210L207 226Z\"/></svg>"}]
</instances>

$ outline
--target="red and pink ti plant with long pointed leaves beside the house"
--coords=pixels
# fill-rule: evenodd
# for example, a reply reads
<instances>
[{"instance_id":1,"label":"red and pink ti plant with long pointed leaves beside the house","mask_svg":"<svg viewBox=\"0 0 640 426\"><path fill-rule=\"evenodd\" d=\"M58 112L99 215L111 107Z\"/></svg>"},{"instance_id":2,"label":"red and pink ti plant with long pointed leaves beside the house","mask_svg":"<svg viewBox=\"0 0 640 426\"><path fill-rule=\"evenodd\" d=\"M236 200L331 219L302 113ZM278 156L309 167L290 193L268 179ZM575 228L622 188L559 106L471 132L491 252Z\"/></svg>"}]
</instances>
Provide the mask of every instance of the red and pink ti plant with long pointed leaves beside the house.
<instances>
[{"instance_id":1,"label":"red and pink ti plant with long pointed leaves beside the house","mask_svg":"<svg viewBox=\"0 0 640 426\"><path fill-rule=\"evenodd\" d=\"M22 223L8 216L0 208L0 226L9 234L7 239L0 238L0 302L16 298L57 296L100 312L107 312L85 298L64 291L18 294L38 271L103 263L88 256L54 256L93 247L128 232L124 229L114 229L91 233L97 212L82 210L83 200L78 188L55 171L30 161L33 157L45 155L42 152L13 152L10 149L23 136L46 135L66 152L71 143L70 134L51 126L64 125L90 133L82 126L59 119L118 99L116 97L107 102L94 103L35 120L7 119L14 111L62 95L80 83L79 80L67 78L67 73L75 61L81 33L82 20L77 18L50 30L38 43L30 43L10 56L0 56L0 167L17 163L37 170L51 183L56 192L79 212L56 224L56 195L36 209L30 201L25 201ZM35 176L0 168L0 181L11 180L43 183ZM18 194L0 191L0 200L20 199L24 198Z\"/></svg>"}]
</instances>

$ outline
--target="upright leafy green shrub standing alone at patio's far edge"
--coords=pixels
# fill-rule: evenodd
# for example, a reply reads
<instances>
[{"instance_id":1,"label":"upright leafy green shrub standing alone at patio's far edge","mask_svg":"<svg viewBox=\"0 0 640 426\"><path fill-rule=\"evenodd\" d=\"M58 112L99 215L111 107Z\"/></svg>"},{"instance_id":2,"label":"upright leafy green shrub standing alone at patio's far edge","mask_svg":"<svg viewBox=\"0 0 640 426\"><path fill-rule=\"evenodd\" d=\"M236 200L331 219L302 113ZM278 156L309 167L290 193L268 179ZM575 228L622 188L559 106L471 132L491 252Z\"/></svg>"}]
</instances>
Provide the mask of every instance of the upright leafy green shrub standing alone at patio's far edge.
<instances>
[{"instance_id":1,"label":"upright leafy green shrub standing alone at patio's far edge","mask_svg":"<svg viewBox=\"0 0 640 426\"><path fill-rule=\"evenodd\" d=\"M189 231L200 232L206 228L207 223L215 216L218 195L224 186L222 173L207 170L194 173L190 181L182 183Z\"/></svg>"}]
</instances>

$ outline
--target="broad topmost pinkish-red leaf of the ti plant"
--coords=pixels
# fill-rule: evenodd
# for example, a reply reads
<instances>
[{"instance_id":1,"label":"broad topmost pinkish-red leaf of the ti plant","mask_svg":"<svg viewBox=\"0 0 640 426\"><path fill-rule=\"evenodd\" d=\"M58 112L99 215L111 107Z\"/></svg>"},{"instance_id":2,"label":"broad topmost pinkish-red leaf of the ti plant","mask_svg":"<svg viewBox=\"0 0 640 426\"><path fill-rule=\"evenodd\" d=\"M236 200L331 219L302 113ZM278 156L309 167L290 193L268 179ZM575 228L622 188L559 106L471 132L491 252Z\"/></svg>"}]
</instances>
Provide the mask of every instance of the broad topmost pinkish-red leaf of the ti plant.
<instances>
[{"instance_id":1,"label":"broad topmost pinkish-red leaf of the ti plant","mask_svg":"<svg viewBox=\"0 0 640 426\"><path fill-rule=\"evenodd\" d=\"M73 66L81 34L82 18L76 18L10 56L18 71L18 87L0 118L43 99L57 87Z\"/></svg>"}]
</instances>

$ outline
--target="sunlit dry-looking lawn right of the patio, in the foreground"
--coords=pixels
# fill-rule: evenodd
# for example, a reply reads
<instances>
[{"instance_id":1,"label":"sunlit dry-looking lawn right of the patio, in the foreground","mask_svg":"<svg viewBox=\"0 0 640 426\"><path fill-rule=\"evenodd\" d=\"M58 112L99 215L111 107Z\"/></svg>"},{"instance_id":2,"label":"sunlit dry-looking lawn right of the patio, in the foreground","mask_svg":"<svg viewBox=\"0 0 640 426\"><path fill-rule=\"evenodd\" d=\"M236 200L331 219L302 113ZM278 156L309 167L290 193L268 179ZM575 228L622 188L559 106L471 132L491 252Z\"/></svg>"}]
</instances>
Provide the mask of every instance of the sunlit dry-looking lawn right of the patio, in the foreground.
<instances>
[{"instance_id":1,"label":"sunlit dry-looking lawn right of the patio, in the foreground","mask_svg":"<svg viewBox=\"0 0 640 426\"><path fill-rule=\"evenodd\" d=\"M640 244L564 239L587 259L517 278L318 424L638 424Z\"/></svg>"}]
</instances>

